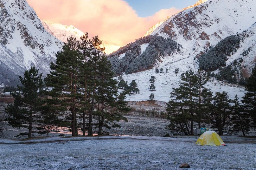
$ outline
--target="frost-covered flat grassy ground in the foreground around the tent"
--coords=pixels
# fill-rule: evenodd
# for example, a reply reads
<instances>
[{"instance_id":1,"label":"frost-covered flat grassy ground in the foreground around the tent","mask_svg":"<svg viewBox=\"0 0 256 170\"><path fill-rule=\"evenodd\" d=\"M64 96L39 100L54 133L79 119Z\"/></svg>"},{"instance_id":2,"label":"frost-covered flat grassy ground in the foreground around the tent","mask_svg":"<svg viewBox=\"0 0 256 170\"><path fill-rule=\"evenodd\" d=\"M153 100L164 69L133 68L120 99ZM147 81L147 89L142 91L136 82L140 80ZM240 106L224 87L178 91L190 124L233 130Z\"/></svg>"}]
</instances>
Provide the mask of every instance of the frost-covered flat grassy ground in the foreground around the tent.
<instances>
[{"instance_id":1,"label":"frost-covered flat grassy ground in the foreground around the tent","mask_svg":"<svg viewBox=\"0 0 256 170\"><path fill-rule=\"evenodd\" d=\"M49 137L0 140L0 169L256 169L255 138L222 136L227 146L198 146L198 137Z\"/></svg>"}]
</instances>

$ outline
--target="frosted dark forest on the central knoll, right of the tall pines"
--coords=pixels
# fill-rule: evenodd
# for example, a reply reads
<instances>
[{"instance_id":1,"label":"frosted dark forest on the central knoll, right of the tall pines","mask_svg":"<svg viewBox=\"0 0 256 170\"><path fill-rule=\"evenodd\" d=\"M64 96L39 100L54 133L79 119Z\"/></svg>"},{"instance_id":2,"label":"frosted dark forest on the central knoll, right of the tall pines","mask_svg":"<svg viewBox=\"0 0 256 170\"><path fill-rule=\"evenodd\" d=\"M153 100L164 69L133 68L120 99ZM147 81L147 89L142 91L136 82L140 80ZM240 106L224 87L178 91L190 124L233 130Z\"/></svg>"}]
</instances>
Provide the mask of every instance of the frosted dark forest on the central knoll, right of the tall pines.
<instances>
[{"instance_id":1,"label":"frosted dark forest on the central knoll, right of the tall pines","mask_svg":"<svg viewBox=\"0 0 256 170\"><path fill-rule=\"evenodd\" d=\"M148 47L141 53L141 45L148 43ZM116 74L125 72L131 74L154 66L160 56L171 55L175 50L179 51L182 46L170 38L164 39L157 35L148 35L135 42L120 48L109 55L108 59ZM120 58L121 54L125 55Z\"/></svg>"}]
</instances>

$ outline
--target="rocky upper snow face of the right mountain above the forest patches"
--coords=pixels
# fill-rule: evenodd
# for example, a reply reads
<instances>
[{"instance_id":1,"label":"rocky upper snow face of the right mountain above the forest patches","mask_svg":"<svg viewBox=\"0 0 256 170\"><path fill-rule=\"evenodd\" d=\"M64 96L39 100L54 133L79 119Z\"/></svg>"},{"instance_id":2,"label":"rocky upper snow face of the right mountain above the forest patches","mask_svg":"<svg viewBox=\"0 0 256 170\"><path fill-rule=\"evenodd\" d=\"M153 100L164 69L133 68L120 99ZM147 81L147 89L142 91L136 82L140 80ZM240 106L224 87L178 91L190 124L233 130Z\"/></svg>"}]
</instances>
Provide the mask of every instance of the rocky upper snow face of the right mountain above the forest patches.
<instances>
[{"instance_id":1,"label":"rocky upper snow face of the right mountain above the forest patches","mask_svg":"<svg viewBox=\"0 0 256 170\"><path fill-rule=\"evenodd\" d=\"M187 56L195 56L248 29L256 21L255 7L256 1L208 0L167 19L152 35L171 37L184 47Z\"/></svg>"}]
</instances>

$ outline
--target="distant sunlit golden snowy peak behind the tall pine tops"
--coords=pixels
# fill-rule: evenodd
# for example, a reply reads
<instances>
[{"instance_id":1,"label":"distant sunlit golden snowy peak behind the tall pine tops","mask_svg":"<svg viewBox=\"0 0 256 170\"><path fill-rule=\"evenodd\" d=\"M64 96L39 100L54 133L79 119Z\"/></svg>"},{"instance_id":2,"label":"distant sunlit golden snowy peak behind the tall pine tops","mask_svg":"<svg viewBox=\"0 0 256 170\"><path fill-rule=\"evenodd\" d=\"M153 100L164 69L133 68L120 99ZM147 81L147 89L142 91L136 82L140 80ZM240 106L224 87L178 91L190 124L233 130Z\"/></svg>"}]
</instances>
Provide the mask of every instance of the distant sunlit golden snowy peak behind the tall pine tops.
<instances>
[{"instance_id":1,"label":"distant sunlit golden snowy peak behind the tall pine tops","mask_svg":"<svg viewBox=\"0 0 256 170\"><path fill-rule=\"evenodd\" d=\"M84 32L72 25L67 26L62 25L61 23L49 22L43 19L40 20L43 23L44 28L62 42L66 42L67 38L71 35L73 35L77 40L84 35ZM102 46L105 47L106 54L110 54L120 48L120 46L110 45L106 42L102 42Z\"/></svg>"}]
</instances>

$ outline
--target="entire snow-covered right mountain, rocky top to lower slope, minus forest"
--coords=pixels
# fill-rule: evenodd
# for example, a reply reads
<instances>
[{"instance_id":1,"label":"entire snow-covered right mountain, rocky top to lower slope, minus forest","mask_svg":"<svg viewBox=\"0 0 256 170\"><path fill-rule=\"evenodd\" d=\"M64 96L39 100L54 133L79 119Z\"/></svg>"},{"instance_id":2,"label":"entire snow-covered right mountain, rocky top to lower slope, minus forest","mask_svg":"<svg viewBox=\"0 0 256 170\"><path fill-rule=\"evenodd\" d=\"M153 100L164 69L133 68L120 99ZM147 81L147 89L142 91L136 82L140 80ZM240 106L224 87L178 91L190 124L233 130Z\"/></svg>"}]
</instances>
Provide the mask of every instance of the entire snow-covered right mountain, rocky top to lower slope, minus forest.
<instances>
[{"instance_id":1,"label":"entire snow-covered right mountain, rocky top to lower slope, minus forest","mask_svg":"<svg viewBox=\"0 0 256 170\"><path fill-rule=\"evenodd\" d=\"M124 74L123 79L128 83L135 80L140 90L140 94L128 95L127 99L148 100L149 95L153 93L155 100L168 101L172 88L179 86L180 74L189 68L196 71L199 68L197 59L201 54L230 35L238 34L241 42L236 52L228 56L226 64L233 63L234 60L240 62L239 67L241 67L243 76L248 77L256 62L256 11L254 7L256 7L256 1L208 0L203 4L184 8L184 11L164 21L150 35L172 38L181 44L183 49L171 56L163 56L161 61L156 61L152 69ZM123 54L120 53L120 59L121 56ZM164 70L167 68L168 72L156 74L156 68ZM178 74L174 73L176 68L179 68ZM219 73L219 70L214 72ZM151 76L156 77L155 91L149 90ZM244 95L243 87L218 81L216 77L211 77L206 87L214 92L226 91L230 98L234 98L235 95L241 98Z\"/></svg>"}]
</instances>

